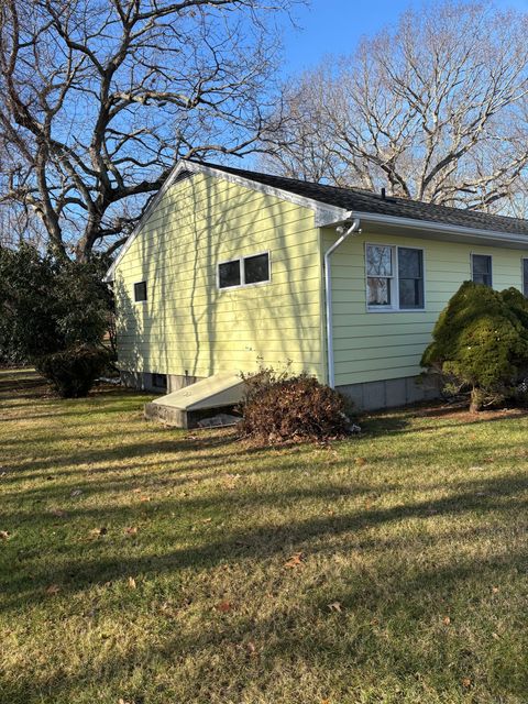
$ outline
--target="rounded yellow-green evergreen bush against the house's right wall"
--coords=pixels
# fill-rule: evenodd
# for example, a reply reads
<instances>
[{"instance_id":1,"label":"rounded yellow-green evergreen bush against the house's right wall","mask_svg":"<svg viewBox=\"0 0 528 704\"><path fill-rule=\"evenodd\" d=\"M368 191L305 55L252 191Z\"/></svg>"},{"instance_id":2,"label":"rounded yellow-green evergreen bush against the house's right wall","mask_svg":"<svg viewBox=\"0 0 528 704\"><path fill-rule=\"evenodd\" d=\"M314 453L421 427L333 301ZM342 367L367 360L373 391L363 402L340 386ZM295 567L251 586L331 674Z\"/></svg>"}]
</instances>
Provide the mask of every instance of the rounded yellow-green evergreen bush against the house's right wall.
<instances>
[{"instance_id":1,"label":"rounded yellow-green evergreen bush against the house's right wall","mask_svg":"<svg viewBox=\"0 0 528 704\"><path fill-rule=\"evenodd\" d=\"M449 393L471 392L472 410L504 403L528 372L528 306L515 288L465 282L440 314L421 365Z\"/></svg>"}]
</instances>

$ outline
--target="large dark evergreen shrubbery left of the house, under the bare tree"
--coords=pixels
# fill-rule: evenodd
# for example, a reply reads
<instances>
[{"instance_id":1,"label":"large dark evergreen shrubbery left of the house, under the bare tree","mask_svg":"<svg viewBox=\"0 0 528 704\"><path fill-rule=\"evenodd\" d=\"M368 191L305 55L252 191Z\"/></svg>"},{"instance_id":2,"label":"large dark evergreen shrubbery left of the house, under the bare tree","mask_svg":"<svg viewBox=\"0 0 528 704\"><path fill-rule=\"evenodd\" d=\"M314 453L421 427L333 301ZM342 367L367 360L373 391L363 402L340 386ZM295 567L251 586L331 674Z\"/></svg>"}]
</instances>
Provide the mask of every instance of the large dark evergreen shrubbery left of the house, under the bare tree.
<instances>
[{"instance_id":1,"label":"large dark evergreen shrubbery left of the house, under the bare tree","mask_svg":"<svg viewBox=\"0 0 528 704\"><path fill-rule=\"evenodd\" d=\"M34 364L62 395L86 395L97 359L109 360L103 348L113 297L102 283L107 265L97 257L85 264L57 258L29 245L0 246L0 363Z\"/></svg>"}]
</instances>

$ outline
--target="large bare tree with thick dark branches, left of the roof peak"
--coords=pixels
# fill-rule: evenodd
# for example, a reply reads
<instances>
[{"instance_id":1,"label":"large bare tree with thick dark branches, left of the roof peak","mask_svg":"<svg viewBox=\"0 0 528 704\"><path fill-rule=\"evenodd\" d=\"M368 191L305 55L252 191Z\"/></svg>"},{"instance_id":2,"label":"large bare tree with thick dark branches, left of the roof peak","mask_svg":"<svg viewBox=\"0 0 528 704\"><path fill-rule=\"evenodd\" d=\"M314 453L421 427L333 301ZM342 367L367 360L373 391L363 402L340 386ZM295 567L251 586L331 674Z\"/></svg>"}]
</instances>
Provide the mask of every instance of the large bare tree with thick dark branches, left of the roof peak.
<instances>
[{"instance_id":1,"label":"large bare tree with thick dark branches, left of the roof peak","mask_svg":"<svg viewBox=\"0 0 528 704\"><path fill-rule=\"evenodd\" d=\"M290 2L0 0L9 218L36 216L59 254L111 253L176 158L254 148Z\"/></svg>"}]
</instances>

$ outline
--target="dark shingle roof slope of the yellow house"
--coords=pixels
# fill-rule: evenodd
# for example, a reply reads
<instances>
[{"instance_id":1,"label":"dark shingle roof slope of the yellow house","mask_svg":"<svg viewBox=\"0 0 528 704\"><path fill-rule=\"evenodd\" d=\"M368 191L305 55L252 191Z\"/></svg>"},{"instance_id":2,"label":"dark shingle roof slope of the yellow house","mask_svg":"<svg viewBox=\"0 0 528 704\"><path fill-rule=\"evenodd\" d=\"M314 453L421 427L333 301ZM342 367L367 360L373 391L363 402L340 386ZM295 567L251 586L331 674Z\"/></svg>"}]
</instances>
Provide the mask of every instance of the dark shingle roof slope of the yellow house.
<instances>
[{"instance_id":1,"label":"dark shingle roof slope of the yellow house","mask_svg":"<svg viewBox=\"0 0 528 704\"><path fill-rule=\"evenodd\" d=\"M284 176L274 176L273 174L263 174L211 163L204 163L204 165L254 180L258 184L272 186L273 188L279 188L305 198L312 198L329 206L344 208L345 210L393 216L396 218L410 218L413 220L438 222L460 228L528 235L528 220L520 220L518 218L493 216L477 210L447 208L446 206L436 206L420 200L407 200L406 198L396 198L393 196L387 196L384 199L380 194L360 188L339 188L337 186L315 184L297 178L286 178Z\"/></svg>"}]
</instances>

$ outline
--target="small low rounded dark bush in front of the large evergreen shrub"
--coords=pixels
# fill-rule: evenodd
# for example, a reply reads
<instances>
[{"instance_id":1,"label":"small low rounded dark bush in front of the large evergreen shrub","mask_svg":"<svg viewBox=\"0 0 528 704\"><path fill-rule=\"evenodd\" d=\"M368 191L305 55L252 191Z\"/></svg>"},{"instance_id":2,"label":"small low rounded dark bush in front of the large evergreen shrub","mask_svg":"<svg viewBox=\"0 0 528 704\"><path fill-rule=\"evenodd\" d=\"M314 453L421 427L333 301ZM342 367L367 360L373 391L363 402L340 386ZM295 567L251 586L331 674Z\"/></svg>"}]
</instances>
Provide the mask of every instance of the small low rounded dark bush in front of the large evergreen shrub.
<instances>
[{"instance_id":1,"label":"small low rounded dark bush in front of the large evergreen shrub","mask_svg":"<svg viewBox=\"0 0 528 704\"><path fill-rule=\"evenodd\" d=\"M85 344L45 354L35 366L62 398L78 398L88 395L108 359L107 350Z\"/></svg>"}]
</instances>

